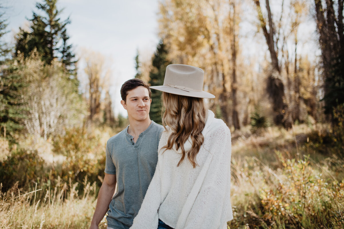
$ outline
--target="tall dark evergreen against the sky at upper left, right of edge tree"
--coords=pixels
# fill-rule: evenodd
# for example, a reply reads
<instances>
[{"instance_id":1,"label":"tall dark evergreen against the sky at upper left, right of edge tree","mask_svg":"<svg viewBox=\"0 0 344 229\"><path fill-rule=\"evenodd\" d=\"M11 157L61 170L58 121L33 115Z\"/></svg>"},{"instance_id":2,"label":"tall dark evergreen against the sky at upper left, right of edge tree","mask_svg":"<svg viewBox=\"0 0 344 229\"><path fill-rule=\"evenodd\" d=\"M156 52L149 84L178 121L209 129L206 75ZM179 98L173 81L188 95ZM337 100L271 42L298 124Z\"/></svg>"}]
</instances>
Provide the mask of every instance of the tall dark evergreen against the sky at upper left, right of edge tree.
<instances>
[{"instance_id":1,"label":"tall dark evergreen against the sky at upper left, right of edge tree","mask_svg":"<svg viewBox=\"0 0 344 229\"><path fill-rule=\"evenodd\" d=\"M36 47L37 52L42 55L42 60L47 64L57 58L61 61L67 72L76 74L75 55L72 45L68 45L69 36L66 32L66 25L71 23L69 17L61 21L62 10L57 10L57 0L44 0L43 3L36 3L36 8L43 12L43 15L33 12L31 31L26 32L20 28L15 45L15 55L18 51L28 57Z\"/></svg>"}]
</instances>

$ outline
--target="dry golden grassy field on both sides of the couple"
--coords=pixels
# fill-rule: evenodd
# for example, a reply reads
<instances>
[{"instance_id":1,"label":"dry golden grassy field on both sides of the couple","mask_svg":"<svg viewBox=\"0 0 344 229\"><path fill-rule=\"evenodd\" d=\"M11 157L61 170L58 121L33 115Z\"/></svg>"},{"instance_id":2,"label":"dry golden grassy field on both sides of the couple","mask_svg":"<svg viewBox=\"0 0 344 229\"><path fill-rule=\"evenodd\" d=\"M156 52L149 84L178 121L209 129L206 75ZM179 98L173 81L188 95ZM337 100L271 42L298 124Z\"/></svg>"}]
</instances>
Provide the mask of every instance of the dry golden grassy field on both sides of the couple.
<instances>
[{"instance_id":1,"label":"dry golden grassy field on both sides of the couple","mask_svg":"<svg viewBox=\"0 0 344 229\"><path fill-rule=\"evenodd\" d=\"M249 129L234 132L231 190L234 220L228 227L343 228L344 150L341 144L333 143L328 129L326 125L301 124L289 131L269 127L255 133ZM17 182L0 191L1 229L89 227L101 182L99 171L103 169L95 166L102 161L101 148L108 135L84 133L83 136L101 142L99 152L93 146L86 147L99 155L79 157L74 147L71 149L75 151L74 160L68 161L67 157L64 160L67 162L53 167L43 163L40 168L49 179L35 181L32 178L43 173L33 173L30 179L26 176L26 183ZM85 151L80 146L76 148ZM58 147L52 150L55 149ZM91 165L71 169L73 176L56 172L57 167L67 169L76 162L80 164L80 160ZM9 163L8 156L3 157L3 166L7 165L5 162ZM106 228L105 219L99 228Z\"/></svg>"}]
</instances>

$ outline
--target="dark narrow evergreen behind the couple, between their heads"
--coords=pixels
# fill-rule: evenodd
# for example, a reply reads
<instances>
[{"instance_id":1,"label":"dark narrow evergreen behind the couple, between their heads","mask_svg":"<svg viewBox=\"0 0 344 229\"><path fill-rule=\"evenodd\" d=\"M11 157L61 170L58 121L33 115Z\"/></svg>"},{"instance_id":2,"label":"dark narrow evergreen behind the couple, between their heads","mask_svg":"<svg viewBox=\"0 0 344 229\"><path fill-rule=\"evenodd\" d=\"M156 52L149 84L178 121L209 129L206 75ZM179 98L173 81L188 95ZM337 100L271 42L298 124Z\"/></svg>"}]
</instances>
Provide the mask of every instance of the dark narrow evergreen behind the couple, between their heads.
<instances>
[{"instance_id":1,"label":"dark narrow evergreen behind the couple, between their heads","mask_svg":"<svg viewBox=\"0 0 344 229\"><path fill-rule=\"evenodd\" d=\"M160 40L157 51L155 51L154 56L152 58L152 70L149 73L149 81L148 83L151 86L159 86L163 85L165 71L167 65L171 64L171 62L167 58L168 51L166 50L166 46L163 43L163 40ZM162 100L161 100L161 91L152 90L152 104L150 107L150 118L156 122L161 124L161 109L162 109Z\"/></svg>"}]
</instances>

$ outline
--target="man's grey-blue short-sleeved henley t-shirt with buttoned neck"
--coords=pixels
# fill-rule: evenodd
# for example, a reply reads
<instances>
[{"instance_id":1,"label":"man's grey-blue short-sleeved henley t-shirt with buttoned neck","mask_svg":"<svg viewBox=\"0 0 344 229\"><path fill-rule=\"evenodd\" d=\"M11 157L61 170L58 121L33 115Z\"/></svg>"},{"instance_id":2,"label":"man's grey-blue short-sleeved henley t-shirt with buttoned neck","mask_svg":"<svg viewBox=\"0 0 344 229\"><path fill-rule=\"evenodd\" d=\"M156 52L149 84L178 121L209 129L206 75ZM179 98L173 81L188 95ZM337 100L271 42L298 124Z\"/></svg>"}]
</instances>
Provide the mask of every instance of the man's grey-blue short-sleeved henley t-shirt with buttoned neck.
<instances>
[{"instance_id":1,"label":"man's grey-blue short-sleeved henley t-shirt with buttoned neck","mask_svg":"<svg viewBox=\"0 0 344 229\"><path fill-rule=\"evenodd\" d=\"M131 227L154 175L163 130L162 125L152 121L136 143L128 134L128 127L108 140L105 173L116 174L117 179L117 192L106 217L108 227Z\"/></svg>"}]
</instances>

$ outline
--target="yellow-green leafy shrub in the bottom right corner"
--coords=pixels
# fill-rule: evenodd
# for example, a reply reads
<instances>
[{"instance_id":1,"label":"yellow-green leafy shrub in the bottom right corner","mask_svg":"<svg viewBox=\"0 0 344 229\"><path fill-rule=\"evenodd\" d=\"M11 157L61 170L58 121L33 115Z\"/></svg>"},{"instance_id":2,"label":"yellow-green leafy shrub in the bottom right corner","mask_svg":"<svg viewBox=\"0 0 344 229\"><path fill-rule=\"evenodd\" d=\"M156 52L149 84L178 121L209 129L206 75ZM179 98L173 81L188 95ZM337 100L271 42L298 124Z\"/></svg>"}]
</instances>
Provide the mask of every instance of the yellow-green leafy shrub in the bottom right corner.
<instances>
[{"instance_id":1,"label":"yellow-green leafy shrub in the bottom right corner","mask_svg":"<svg viewBox=\"0 0 344 229\"><path fill-rule=\"evenodd\" d=\"M293 228L343 228L344 182L327 183L307 159L281 160L286 179L260 192L262 218Z\"/></svg>"}]
</instances>

